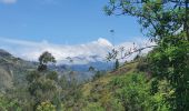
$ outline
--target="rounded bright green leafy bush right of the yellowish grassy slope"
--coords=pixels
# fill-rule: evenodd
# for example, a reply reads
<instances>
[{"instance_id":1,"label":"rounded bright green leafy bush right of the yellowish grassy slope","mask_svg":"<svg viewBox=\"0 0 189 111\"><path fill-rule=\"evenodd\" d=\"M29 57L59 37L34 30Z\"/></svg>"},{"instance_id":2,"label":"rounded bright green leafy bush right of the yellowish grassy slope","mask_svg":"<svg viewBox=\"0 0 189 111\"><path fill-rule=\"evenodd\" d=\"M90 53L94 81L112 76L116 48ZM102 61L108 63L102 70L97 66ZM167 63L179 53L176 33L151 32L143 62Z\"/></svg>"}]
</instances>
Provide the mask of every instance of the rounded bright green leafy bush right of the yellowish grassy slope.
<instances>
[{"instance_id":1,"label":"rounded bright green leafy bush right of the yellowish grassy slope","mask_svg":"<svg viewBox=\"0 0 189 111\"><path fill-rule=\"evenodd\" d=\"M149 85L146 82L145 77L141 74L128 74L123 78L115 78L111 81L113 88L118 88L115 94L121 101L125 110L141 111L150 107L148 104L150 97Z\"/></svg>"}]
</instances>

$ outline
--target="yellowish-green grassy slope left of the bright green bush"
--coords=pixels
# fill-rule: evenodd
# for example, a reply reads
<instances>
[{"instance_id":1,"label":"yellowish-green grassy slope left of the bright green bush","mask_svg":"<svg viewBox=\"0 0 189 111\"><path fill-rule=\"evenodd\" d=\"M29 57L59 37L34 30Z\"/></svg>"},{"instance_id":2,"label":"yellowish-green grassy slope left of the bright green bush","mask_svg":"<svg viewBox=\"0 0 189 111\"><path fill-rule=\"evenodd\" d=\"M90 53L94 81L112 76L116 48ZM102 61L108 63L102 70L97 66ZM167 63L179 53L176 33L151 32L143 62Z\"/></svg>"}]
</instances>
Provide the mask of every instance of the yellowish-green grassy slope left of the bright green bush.
<instances>
[{"instance_id":1,"label":"yellowish-green grassy slope left of the bright green bush","mask_svg":"<svg viewBox=\"0 0 189 111\"><path fill-rule=\"evenodd\" d=\"M82 92L83 97L90 101L89 109L99 107L101 111L125 111L121 100L115 95L116 91L120 88L113 84L113 82L117 80L116 82L119 84L119 82L123 82L122 80L125 78L129 78L132 73L138 72L138 62L123 64L117 71L108 72L107 74L83 84Z\"/></svg>"}]
</instances>

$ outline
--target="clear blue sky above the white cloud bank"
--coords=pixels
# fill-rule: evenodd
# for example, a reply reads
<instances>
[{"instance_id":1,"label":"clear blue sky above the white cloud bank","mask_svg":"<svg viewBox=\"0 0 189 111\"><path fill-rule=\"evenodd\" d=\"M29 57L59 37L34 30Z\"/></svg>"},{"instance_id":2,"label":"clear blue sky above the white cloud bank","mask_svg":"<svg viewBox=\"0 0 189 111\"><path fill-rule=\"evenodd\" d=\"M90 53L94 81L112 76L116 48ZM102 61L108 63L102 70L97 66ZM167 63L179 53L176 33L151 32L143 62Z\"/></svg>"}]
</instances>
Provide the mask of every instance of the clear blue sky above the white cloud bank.
<instances>
[{"instance_id":1,"label":"clear blue sky above the white cloud bank","mask_svg":"<svg viewBox=\"0 0 189 111\"><path fill-rule=\"evenodd\" d=\"M142 37L132 17L108 17L108 0L0 0L0 37L59 44ZM115 36L110 30L115 30Z\"/></svg>"}]
</instances>

